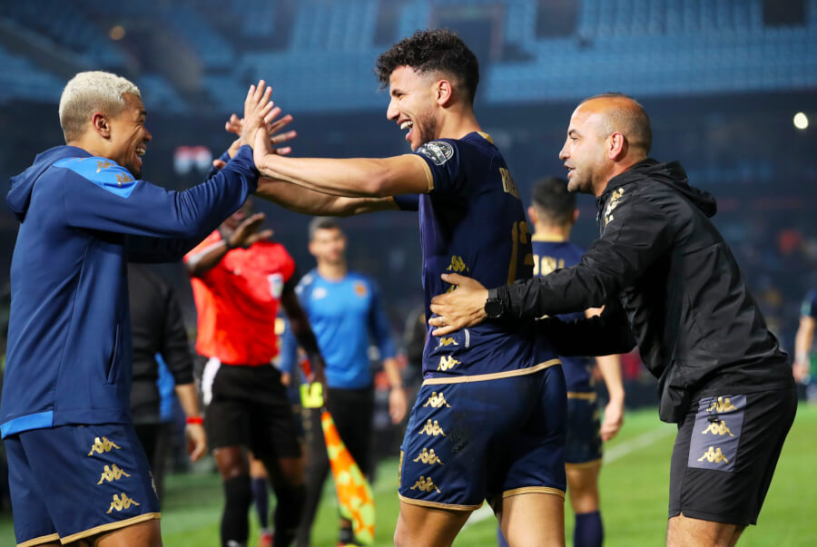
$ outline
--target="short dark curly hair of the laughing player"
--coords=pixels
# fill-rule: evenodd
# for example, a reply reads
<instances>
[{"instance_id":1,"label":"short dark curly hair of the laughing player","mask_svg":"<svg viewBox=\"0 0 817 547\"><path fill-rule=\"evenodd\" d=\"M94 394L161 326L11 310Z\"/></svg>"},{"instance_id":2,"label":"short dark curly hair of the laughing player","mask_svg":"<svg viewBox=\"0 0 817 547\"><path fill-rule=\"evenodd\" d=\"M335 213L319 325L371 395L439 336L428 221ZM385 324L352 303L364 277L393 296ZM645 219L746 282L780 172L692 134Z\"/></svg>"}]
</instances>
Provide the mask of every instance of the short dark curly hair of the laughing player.
<instances>
[{"instance_id":1,"label":"short dark curly hair of the laughing player","mask_svg":"<svg viewBox=\"0 0 817 547\"><path fill-rule=\"evenodd\" d=\"M450 74L465 89L468 102L474 103L479 84L477 55L452 30L417 31L380 54L375 72L381 88L389 85L391 73L399 66L411 67L417 73Z\"/></svg>"}]
</instances>

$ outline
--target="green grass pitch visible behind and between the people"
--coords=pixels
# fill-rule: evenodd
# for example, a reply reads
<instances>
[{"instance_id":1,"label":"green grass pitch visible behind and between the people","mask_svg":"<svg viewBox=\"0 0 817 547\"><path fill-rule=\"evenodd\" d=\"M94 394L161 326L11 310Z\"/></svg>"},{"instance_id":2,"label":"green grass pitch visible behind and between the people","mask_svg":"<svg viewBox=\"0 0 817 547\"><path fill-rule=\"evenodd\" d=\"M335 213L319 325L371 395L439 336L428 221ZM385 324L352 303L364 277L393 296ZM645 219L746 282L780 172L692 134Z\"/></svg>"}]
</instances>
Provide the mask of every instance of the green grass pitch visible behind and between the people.
<instances>
[{"instance_id":1,"label":"green grass pitch visible behind and between the people","mask_svg":"<svg viewBox=\"0 0 817 547\"><path fill-rule=\"evenodd\" d=\"M624 429L605 446L601 475L602 515L605 545L639 546L664 544L669 476L669 456L674 425L658 421L655 410L626 416ZM817 405L802 403L772 488L766 498L759 525L743 533L742 547L817 545L817 484L813 480L814 439L817 438ZM379 466L373 485L377 500L377 545L390 545L398 516L397 461ZM221 484L216 474L186 474L168 477L162 508L162 537L167 547L218 545L221 517ZM567 505L569 507L569 505ZM481 520L479 520L481 517ZM337 541L337 503L328 482L317 522L312 532L316 546ZM251 516L250 545L257 541L257 525ZM570 544L573 517L567 510L566 538ZM458 547L495 545L496 521L484 507L472 515L454 543ZM11 516L0 515L0 545L14 545Z\"/></svg>"}]
</instances>

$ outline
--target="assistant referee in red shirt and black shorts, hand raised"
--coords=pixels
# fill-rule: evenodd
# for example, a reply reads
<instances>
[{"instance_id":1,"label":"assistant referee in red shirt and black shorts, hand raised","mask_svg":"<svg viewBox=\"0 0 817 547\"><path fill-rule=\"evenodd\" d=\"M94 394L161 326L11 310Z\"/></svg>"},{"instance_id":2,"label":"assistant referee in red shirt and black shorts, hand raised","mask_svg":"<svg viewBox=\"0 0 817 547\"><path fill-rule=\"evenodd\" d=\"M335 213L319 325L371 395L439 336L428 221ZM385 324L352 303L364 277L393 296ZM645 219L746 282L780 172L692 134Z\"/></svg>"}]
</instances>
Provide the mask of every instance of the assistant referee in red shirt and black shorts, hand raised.
<instances>
[{"instance_id":1,"label":"assistant referee in red shirt and black shorts, hand raised","mask_svg":"<svg viewBox=\"0 0 817 547\"><path fill-rule=\"evenodd\" d=\"M300 522L300 444L281 373L271 364L279 351L279 305L310 359L314 381L323 383L323 357L295 295L295 261L283 245L268 240L271 230L258 231L263 220L247 201L184 258L198 312L196 351L208 359L204 425L224 485L224 547L246 545L249 535L248 450L263 463L278 499L274 539L262 531L262 541L289 545Z\"/></svg>"}]
</instances>

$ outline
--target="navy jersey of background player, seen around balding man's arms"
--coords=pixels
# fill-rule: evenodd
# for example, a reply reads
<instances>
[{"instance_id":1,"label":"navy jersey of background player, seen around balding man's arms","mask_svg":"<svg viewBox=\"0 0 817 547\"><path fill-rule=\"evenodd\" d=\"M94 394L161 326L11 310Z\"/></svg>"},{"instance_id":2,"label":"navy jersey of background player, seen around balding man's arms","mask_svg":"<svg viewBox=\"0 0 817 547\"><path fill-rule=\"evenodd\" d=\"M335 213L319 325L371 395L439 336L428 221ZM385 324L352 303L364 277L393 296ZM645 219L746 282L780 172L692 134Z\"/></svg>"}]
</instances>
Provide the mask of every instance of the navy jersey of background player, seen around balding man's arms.
<instances>
[{"instance_id":1,"label":"navy jersey of background player, seen around balding man's arms","mask_svg":"<svg viewBox=\"0 0 817 547\"><path fill-rule=\"evenodd\" d=\"M578 264L585 251L564 239L533 237L534 275L546 276L556 269L569 268ZM559 316L563 321L583 319L585 313L578 311ZM587 357L559 357L565 372L568 392L588 393L593 391L590 376L591 359Z\"/></svg>"}]
</instances>

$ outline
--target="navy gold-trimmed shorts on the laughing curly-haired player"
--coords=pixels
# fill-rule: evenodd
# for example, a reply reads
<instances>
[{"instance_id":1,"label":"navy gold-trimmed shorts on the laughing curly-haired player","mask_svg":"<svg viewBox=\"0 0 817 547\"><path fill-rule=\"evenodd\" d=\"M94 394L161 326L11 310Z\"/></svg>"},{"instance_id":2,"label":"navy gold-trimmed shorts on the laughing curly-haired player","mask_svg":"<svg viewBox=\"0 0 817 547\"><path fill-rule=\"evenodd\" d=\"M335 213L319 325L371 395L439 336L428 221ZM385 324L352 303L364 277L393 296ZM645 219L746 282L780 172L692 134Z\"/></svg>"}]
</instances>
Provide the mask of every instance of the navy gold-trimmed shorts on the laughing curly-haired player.
<instances>
[{"instance_id":1,"label":"navy gold-trimmed shorts on the laughing curly-haired player","mask_svg":"<svg viewBox=\"0 0 817 547\"><path fill-rule=\"evenodd\" d=\"M423 382L400 447L400 500L469 511L522 493L564 497L565 376L534 369Z\"/></svg>"}]
</instances>

